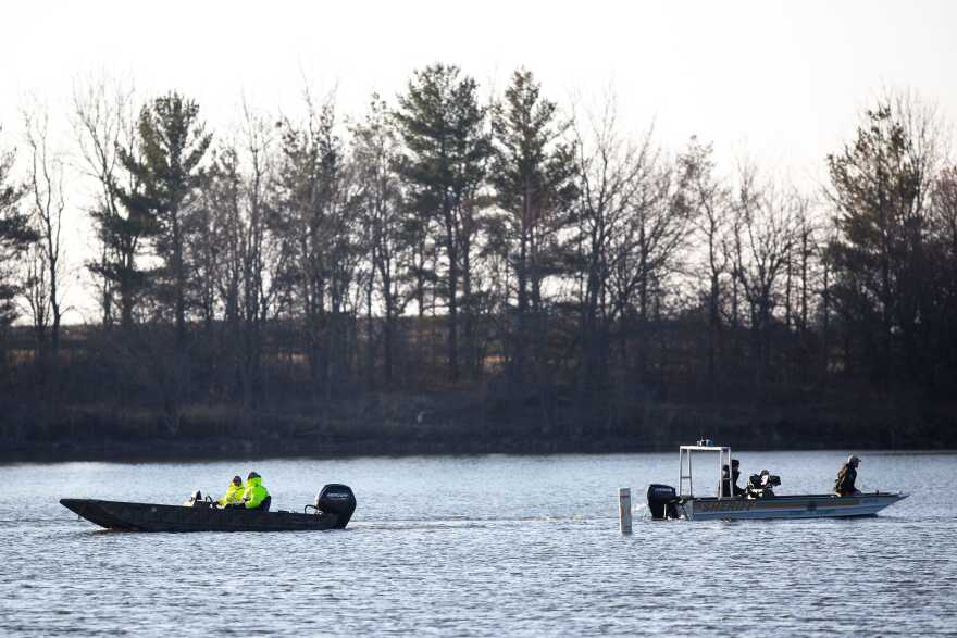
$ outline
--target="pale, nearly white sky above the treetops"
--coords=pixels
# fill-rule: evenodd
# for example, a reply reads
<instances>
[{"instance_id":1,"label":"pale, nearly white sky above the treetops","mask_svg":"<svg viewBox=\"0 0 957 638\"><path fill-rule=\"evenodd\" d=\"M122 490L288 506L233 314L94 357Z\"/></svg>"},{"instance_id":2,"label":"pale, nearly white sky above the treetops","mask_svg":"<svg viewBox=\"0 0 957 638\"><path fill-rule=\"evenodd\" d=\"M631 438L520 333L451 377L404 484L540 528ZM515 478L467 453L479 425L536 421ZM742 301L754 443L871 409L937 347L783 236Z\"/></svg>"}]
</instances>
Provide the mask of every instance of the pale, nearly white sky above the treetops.
<instances>
[{"instance_id":1,"label":"pale, nearly white sky above the treetops","mask_svg":"<svg viewBox=\"0 0 957 638\"><path fill-rule=\"evenodd\" d=\"M486 89L524 65L566 103L610 88L626 127L654 120L672 149L697 134L719 158L805 178L882 87L911 88L957 122L957 2L946 0L14 0L0 15L3 148L22 146L25 96L65 120L74 83L90 74L130 78L144 96L181 90L215 130L235 122L241 95L294 110L303 78L337 87L340 110L359 114L371 91L391 99L436 61Z\"/></svg>"}]
</instances>

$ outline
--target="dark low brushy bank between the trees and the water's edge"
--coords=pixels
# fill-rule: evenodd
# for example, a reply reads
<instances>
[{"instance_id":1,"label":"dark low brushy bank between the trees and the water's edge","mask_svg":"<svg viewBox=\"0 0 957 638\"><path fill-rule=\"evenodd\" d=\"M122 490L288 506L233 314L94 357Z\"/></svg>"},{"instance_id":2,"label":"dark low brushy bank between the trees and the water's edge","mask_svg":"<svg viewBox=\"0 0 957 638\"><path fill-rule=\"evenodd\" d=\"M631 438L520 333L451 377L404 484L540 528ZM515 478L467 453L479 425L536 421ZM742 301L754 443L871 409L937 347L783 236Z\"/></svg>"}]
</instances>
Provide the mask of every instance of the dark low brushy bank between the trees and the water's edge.
<instances>
[{"instance_id":1,"label":"dark low brushy bank between the trees and the water's edge","mask_svg":"<svg viewBox=\"0 0 957 638\"><path fill-rule=\"evenodd\" d=\"M37 412L27 417L22 436L9 436L7 420L0 463L673 452L701 437L733 450L957 449L953 412L881 404L822 408L661 404L645 411L649 424L601 431L567 424L543 430L532 418L522 421L522 405L489 406L478 396L377 396L339 405L325 420L249 415L226 405L196 408L184 412L176 434L167 430L161 412L39 409L41 418Z\"/></svg>"}]
</instances>

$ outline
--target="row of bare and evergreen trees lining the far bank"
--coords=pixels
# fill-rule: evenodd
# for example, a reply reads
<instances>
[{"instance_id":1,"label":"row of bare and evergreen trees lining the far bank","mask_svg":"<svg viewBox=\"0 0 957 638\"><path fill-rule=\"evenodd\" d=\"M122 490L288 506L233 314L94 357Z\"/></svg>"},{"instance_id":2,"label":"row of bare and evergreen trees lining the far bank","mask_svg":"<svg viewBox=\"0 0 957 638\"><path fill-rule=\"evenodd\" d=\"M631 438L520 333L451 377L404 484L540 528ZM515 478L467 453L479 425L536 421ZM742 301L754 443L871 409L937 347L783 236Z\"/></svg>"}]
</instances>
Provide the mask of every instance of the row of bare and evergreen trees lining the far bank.
<instances>
[{"instance_id":1,"label":"row of bare and evergreen trees lining the far bank","mask_svg":"<svg viewBox=\"0 0 957 638\"><path fill-rule=\"evenodd\" d=\"M175 91L91 84L71 111L91 210L44 110L0 155L10 398L150 406L178 431L194 404L475 390L610 431L656 402L957 390L957 166L907 91L810 189L630 135L611 101L568 112L526 70L487 100L434 64L355 118L309 93L298 117L244 104L223 134ZM64 328L78 214L99 318Z\"/></svg>"}]
</instances>

